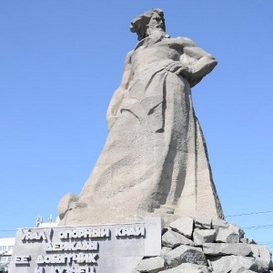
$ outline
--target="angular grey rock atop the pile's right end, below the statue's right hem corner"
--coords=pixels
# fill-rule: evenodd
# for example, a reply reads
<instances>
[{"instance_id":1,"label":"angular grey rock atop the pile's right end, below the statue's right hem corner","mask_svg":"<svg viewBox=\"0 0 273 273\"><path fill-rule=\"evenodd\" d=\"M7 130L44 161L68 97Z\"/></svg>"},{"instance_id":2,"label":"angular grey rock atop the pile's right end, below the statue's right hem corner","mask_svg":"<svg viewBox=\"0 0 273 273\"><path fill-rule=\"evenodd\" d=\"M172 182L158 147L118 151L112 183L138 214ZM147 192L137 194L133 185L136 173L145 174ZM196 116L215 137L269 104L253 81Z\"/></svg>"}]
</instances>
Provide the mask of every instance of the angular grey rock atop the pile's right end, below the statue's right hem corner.
<instances>
[{"instance_id":1,"label":"angular grey rock atop the pile's right end, below the statue's right hem corner","mask_svg":"<svg viewBox=\"0 0 273 273\"><path fill-rule=\"evenodd\" d=\"M235 224L230 224L228 227L219 227L216 241L222 243L239 243L240 238L243 238L244 231Z\"/></svg>"}]
</instances>

